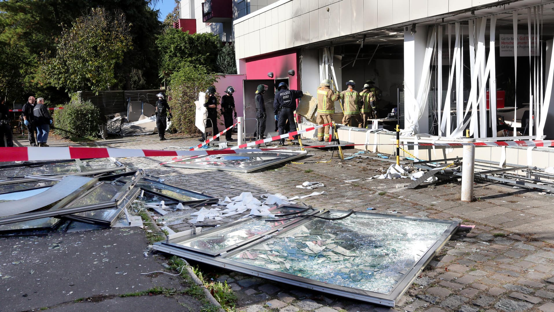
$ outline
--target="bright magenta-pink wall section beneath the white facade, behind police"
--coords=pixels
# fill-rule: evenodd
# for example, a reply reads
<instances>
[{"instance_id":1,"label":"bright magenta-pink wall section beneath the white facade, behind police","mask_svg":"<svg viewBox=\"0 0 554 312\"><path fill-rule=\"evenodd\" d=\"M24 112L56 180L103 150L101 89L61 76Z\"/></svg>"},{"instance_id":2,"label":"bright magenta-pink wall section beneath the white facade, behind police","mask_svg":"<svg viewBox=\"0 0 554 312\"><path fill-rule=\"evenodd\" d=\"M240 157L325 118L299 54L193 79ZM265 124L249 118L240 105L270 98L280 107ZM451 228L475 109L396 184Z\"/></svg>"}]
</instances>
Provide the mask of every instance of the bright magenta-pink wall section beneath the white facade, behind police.
<instances>
[{"instance_id":1,"label":"bright magenta-pink wall section beneath the white facade, behind police","mask_svg":"<svg viewBox=\"0 0 554 312\"><path fill-rule=\"evenodd\" d=\"M294 69L294 76L289 76L288 71ZM268 73L273 71L273 79L289 78L291 89L299 89L298 59L296 50L271 53L261 57L246 60L246 79L270 79Z\"/></svg>"}]
</instances>

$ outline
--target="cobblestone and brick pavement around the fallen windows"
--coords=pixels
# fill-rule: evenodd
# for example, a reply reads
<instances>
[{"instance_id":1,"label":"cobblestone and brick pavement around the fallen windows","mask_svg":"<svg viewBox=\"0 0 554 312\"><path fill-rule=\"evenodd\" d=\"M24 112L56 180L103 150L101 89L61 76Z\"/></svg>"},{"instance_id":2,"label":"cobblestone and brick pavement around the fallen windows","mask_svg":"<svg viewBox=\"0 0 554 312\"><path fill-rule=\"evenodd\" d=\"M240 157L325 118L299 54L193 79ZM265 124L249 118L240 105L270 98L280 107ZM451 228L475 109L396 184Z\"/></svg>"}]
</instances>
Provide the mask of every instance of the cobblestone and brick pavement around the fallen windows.
<instances>
[{"instance_id":1,"label":"cobblestone and brick pavement around the fallen windows","mask_svg":"<svg viewBox=\"0 0 554 312\"><path fill-rule=\"evenodd\" d=\"M158 141L157 136L124 137L96 142L96 146L173 149L193 146L198 141L178 135ZM53 142L61 146L64 142ZM352 151L352 150L350 150ZM346 151L348 152L348 150ZM307 195L296 185L320 181L329 195L305 198L302 202L319 208L355 209L376 212L396 210L403 216L456 219L474 225L458 232L402 296L394 310L405 311L545 311L554 312L554 196L515 189L492 182L476 183L478 201L459 201L459 182L440 182L408 190L406 180L365 180L391 163L354 158L340 161L331 153L309 151L309 156L253 173L204 171L163 167L167 157L120 159L131 168L163 177L166 183L224 198L241 192ZM345 180L364 180L344 182ZM168 215L169 216L169 215ZM166 216L167 217L167 216ZM225 221L225 220L224 220ZM228 221L228 220L227 220ZM172 224L175 231L187 229L186 222ZM352 301L271 280L213 270L239 296L243 311L385 311L386 308Z\"/></svg>"}]
</instances>

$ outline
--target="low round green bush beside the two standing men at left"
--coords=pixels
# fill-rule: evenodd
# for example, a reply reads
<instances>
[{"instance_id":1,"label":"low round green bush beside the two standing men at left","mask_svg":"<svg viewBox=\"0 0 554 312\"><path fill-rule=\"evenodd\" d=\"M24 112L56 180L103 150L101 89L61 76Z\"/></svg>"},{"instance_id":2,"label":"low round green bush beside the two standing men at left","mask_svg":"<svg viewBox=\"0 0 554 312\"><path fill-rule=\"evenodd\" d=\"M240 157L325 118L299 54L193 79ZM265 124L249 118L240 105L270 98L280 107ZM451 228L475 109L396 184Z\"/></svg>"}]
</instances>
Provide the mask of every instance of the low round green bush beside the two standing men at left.
<instances>
[{"instance_id":1,"label":"low round green bush beside the two standing men at left","mask_svg":"<svg viewBox=\"0 0 554 312\"><path fill-rule=\"evenodd\" d=\"M96 139L101 125L100 109L90 101L81 102L77 96L54 111L54 133L69 139Z\"/></svg>"}]
</instances>

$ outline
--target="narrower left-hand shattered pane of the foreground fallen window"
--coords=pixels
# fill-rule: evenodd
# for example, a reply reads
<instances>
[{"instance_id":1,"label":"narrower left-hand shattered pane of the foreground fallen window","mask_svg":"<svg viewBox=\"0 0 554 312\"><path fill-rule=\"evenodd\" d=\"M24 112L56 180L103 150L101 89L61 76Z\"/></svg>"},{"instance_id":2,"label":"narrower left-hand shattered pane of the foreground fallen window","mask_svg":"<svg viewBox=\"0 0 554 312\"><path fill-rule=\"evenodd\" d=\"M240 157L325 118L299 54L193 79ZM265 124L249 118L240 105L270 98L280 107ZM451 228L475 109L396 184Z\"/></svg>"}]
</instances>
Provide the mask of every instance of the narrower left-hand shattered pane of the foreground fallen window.
<instances>
[{"instance_id":1,"label":"narrower left-hand shattered pane of the foreground fallen window","mask_svg":"<svg viewBox=\"0 0 554 312\"><path fill-rule=\"evenodd\" d=\"M299 210L300 209L282 207L271 209L271 213L288 213L297 212ZM196 234L192 239L188 238L183 240L182 237L179 237L172 239L170 243L198 249L205 253L218 253L225 248L240 244L250 238L259 236L276 228L283 227L286 223L295 221L294 219L289 219L285 221L266 222L265 219L270 218L254 218L251 221L238 222L232 226L225 227L222 230L204 230L203 232ZM259 248L262 250L271 250L266 247L266 245L258 246L255 250Z\"/></svg>"}]
</instances>

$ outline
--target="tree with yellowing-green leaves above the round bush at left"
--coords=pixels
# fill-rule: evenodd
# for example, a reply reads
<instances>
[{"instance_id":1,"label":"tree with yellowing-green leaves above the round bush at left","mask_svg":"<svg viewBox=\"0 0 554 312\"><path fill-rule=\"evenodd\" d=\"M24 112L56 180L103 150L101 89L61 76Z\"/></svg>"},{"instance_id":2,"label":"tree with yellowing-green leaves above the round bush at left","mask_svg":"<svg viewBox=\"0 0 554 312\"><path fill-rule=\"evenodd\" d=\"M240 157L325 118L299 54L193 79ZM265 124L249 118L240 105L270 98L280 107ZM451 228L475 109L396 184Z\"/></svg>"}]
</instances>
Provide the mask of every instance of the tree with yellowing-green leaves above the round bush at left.
<instances>
[{"instance_id":1,"label":"tree with yellowing-green leaves above the round bush at left","mask_svg":"<svg viewBox=\"0 0 554 312\"><path fill-rule=\"evenodd\" d=\"M122 12L91 9L61 34L55 53L46 53L41 68L47 81L71 92L118 88L115 69L131 47L129 27Z\"/></svg>"}]
</instances>

